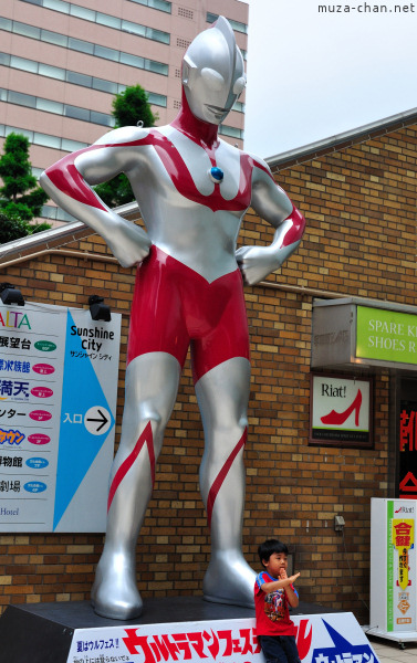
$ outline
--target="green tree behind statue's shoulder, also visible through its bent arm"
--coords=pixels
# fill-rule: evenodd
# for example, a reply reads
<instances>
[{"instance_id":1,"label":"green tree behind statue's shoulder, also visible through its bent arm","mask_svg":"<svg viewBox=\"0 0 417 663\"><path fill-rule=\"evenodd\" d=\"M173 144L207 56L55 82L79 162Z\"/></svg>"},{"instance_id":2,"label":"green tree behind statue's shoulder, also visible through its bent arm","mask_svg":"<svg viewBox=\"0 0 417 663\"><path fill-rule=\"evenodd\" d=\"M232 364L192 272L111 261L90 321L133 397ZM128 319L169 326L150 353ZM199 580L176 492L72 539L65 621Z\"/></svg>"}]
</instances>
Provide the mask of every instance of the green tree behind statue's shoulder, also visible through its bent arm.
<instances>
[{"instance_id":1,"label":"green tree behind statue's shoulder, also visible through its bent arm","mask_svg":"<svg viewBox=\"0 0 417 663\"><path fill-rule=\"evenodd\" d=\"M115 128L136 126L138 122L144 127L154 127L158 115L152 112L148 96L140 85L131 85L117 94L112 103L112 115ZM132 202L135 196L127 177L117 175L108 182L97 185L94 190L108 207Z\"/></svg>"}]
</instances>

